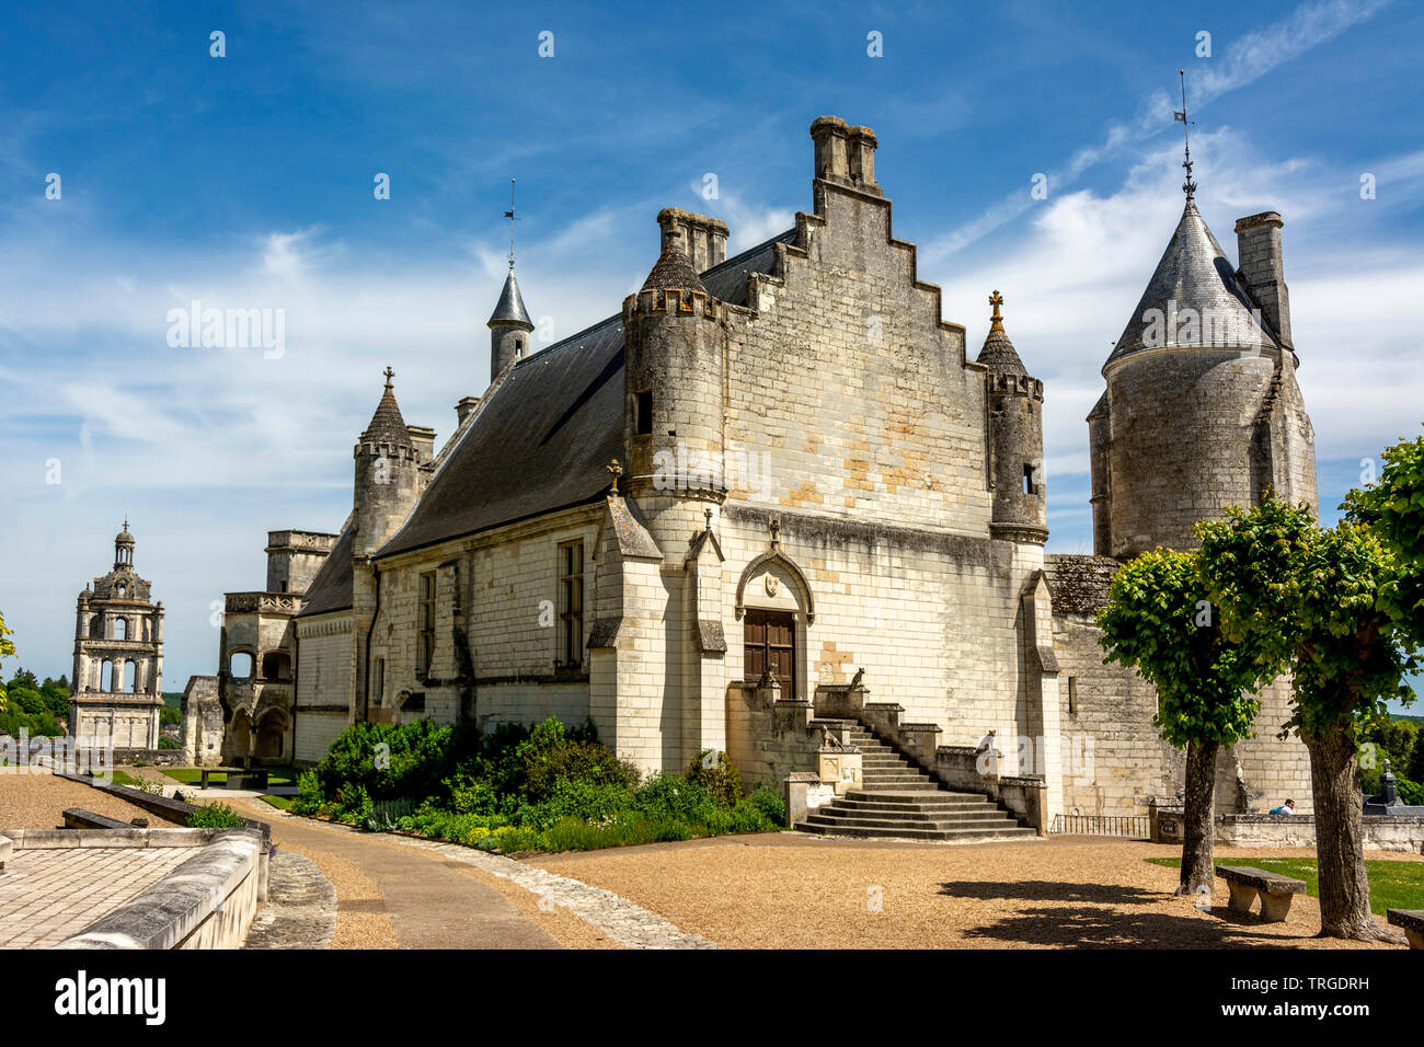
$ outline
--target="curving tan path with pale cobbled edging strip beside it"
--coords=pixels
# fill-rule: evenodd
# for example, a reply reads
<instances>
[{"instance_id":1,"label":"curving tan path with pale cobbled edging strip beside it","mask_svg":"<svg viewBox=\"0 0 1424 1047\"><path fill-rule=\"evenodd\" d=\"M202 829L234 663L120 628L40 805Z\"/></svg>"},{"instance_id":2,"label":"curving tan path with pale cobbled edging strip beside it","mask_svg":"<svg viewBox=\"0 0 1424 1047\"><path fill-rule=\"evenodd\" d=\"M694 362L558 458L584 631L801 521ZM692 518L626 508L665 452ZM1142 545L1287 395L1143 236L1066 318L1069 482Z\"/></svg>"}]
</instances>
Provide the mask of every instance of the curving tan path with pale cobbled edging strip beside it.
<instances>
[{"instance_id":1,"label":"curving tan path with pale cobbled edging strip beside it","mask_svg":"<svg viewBox=\"0 0 1424 1047\"><path fill-rule=\"evenodd\" d=\"M249 806L241 802L235 806ZM265 806L265 805L263 805ZM557 876L500 855L399 833L360 832L278 811L251 811L272 825L272 839L353 863L380 889L403 949L558 949L494 887L459 872L470 866L538 896L540 907L565 907L629 949L715 949L696 934L601 887Z\"/></svg>"}]
</instances>

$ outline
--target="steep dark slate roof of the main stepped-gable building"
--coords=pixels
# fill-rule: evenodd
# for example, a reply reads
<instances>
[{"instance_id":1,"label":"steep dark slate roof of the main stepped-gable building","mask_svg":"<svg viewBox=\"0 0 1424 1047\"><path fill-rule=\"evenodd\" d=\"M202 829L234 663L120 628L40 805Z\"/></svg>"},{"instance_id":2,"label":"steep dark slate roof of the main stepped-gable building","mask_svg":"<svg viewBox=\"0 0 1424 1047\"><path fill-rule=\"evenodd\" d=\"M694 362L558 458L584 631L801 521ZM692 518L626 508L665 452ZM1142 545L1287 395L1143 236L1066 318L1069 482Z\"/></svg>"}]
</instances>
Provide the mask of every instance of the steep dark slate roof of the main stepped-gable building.
<instances>
[{"instance_id":1,"label":"steep dark slate roof of the main stepped-gable building","mask_svg":"<svg viewBox=\"0 0 1424 1047\"><path fill-rule=\"evenodd\" d=\"M789 229L726 259L702 274L698 286L743 305L749 274L770 272L775 245L795 235ZM621 312L517 362L487 393L410 519L377 556L602 497L608 463L627 459L622 372Z\"/></svg>"}]
</instances>

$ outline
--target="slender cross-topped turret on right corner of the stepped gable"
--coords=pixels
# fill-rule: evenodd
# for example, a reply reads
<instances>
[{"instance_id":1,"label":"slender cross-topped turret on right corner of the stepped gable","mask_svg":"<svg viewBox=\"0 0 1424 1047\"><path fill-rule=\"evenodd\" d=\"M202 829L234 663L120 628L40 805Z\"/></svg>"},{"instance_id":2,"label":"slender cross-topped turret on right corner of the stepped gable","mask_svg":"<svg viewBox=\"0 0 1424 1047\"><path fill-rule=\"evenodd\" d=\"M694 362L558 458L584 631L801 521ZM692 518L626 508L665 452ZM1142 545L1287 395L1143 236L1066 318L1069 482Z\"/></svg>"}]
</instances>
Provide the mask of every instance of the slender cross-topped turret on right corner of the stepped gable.
<instances>
[{"instance_id":1,"label":"slender cross-topped turret on right corner of the stepped gable","mask_svg":"<svg viewBox=\"0 0 1424 1047\"><path fill-rule=\"evenodd\" d=\"M1044 383L1028 375L1018 350L1008 340L1000 306L1004 296L990 296L994 316L978 362L988 368L990 477L994 514L990 534L1005 541L1042 546L1048 541L1044 504Z\"/></svg>"}]
</instances>

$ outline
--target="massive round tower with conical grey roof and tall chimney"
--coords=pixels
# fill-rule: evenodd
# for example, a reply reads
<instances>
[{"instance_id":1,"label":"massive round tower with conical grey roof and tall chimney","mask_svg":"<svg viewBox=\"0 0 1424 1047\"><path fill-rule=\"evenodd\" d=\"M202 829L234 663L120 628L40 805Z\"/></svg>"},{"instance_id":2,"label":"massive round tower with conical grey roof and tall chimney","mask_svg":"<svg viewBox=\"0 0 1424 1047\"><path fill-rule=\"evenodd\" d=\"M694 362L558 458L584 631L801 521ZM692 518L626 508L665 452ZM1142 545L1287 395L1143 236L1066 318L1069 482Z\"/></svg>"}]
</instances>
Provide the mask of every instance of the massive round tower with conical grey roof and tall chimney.
<instances>
[{"instance_id":1,"label":"massive round tower with conical grey roof and tall chimney","mask_svg":"<svg viewBox=\"0 0 1424 1047\"><path fill-rule=\"evenodd\" d=\"M1188 192L1088 419L1099 554L1190 548L1198 520L1267 490L1314 509L1314 433L1289 343L1280 217L1269 215L1237 228L1237 271Z\"/></svg>"}]
</instances>

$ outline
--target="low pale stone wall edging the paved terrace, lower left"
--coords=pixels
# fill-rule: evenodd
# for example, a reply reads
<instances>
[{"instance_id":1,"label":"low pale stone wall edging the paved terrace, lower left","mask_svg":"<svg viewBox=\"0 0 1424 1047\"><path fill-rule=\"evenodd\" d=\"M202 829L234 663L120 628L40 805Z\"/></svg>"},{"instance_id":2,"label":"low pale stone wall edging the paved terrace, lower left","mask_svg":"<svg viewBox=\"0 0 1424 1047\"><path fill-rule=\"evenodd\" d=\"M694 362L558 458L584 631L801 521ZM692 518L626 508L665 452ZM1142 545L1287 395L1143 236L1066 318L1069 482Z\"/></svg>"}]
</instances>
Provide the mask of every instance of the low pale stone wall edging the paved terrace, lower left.
<instances>
[{"instance_id":1,"label":"low pale stone wall edging the paved terrace, lower left","mask_svg":"<svg viewBox=\"0 0 1424 1047\"><path fill-rule=\"evenodd\" d=\"M51 829L81 836L80 846L125 846L118 829ZM265 846L253 829L134 829L150 836L138 846L175 846L157 840L174 833L216 833L197 853L152 886L101 916L56 949L236 949L265 896ZM154 839L157 838L157 839ZM38 840L36 840L38 842ZM21 846L30 846L24 833ZM68 846L74 846L70 843Z\"/></svg>"}]
</instances>

